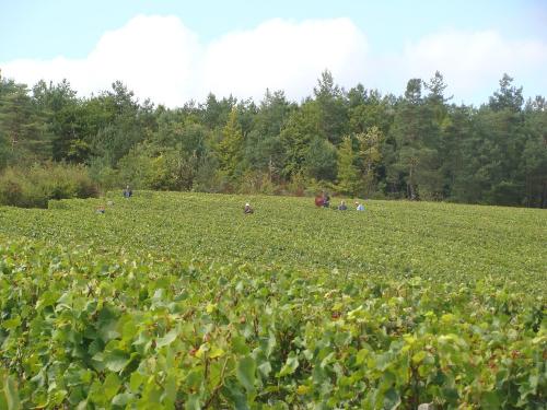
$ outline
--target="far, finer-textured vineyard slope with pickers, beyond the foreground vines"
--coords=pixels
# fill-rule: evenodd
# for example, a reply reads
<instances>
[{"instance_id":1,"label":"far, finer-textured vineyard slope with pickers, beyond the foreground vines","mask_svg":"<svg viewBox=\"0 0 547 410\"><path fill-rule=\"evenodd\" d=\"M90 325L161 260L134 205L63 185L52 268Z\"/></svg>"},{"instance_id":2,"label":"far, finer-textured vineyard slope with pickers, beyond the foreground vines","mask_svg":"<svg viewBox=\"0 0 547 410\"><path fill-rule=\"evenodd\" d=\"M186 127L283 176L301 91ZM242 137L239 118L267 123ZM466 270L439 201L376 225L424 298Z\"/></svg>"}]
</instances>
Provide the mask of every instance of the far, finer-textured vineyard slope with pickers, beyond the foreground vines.
<instances>
[{"instance_id":1,"label":"far, finer-textured vineyard slope with pickers, beyond the foreground vines","mask_svg":"<svg viewBox=\"0 0 547 410\"><path fill-rule=\"evenodd\" d=\"M104 215L95 209L106 206ZM244 215L251 200L256 212ZM63 200L0 210L1 232L97 251L253 262L440 282L491 277L545 294L544 210L370 201L365 212L317 209L310 198L142 192L129 201Z\"/></svg>"}]
</instances>

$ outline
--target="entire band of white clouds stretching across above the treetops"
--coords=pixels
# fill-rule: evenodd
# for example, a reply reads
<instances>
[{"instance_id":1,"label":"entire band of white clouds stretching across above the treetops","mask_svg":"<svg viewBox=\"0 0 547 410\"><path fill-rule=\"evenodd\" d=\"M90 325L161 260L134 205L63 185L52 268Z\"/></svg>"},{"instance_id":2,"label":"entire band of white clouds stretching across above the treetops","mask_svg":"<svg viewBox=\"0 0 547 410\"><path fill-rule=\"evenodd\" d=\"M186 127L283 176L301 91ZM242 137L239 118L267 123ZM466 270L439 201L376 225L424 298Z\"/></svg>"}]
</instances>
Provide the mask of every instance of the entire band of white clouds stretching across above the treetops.
<instances>
[{"instance_id":1,"label":"entire band of white clouds stretching across above the treetops","mask_svg":"<svg viewBox=\"0 0 547 410\"><path fill-rule=\"evenodd\" d=\"M362 82L395 94L408 79L427 80L440 70L456 102L476 103L497 89L503 72L525 92L546 94L546 63L547 44L508 40L492 31L437 33L407 42L398 52L372 55L349 19L275 19L201 44L176 16L139 15L105 33L86 58L15 60L0 68L27 84L67 78L84 95L121 80L140 98L175 106L203 101L210 91L260 99L266 87L298 101L312 93L324 69L345 87Z\"/></svg>"}]
</instances>

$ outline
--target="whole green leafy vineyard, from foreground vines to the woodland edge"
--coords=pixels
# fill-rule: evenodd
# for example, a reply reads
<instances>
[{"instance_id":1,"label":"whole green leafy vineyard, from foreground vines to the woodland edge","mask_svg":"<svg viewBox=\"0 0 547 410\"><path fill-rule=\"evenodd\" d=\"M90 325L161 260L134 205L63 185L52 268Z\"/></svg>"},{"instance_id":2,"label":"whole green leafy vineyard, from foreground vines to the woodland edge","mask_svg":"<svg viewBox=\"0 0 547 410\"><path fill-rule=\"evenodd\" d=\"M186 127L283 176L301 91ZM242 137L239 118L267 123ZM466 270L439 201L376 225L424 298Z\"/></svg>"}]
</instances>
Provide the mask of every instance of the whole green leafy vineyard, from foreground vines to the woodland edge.
<instances>
[{"instance_id":1,"label":"whole green leafy vineyard, from foreground vines to the woodland edge","mask_svg":"<svg viewBox=\"0 0 547 410\"><path fill-rule=\"evenodd\" d=\"M0 408L542 408L545 211L365 207L0 208Z\"/></svg>"}]
</instances>

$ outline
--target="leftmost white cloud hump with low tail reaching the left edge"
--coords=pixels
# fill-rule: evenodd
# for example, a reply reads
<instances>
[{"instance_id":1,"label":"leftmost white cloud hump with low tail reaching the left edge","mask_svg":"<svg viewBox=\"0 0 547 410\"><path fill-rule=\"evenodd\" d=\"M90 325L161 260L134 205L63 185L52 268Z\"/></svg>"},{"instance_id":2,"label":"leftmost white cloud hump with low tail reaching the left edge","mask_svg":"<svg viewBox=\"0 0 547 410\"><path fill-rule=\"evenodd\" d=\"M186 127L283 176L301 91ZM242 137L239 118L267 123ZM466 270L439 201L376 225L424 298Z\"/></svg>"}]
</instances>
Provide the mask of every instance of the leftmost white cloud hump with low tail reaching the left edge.
<instances>
[{"instance_id":1,"label":"leftmost white cloud hump with low tail reaching the left edge","mask_svg":"<svg viewBox=\"0 0 547 410\"><path fill-rule=\"evenodd\" d=\"M142 98L177 105L196 92L201 52L197 36L177 17L139 15L105 33L85 59L16 60L0 66L5 77L28 84L66 78L85 95L121 80Z\"/></svg>"}]
</instances>

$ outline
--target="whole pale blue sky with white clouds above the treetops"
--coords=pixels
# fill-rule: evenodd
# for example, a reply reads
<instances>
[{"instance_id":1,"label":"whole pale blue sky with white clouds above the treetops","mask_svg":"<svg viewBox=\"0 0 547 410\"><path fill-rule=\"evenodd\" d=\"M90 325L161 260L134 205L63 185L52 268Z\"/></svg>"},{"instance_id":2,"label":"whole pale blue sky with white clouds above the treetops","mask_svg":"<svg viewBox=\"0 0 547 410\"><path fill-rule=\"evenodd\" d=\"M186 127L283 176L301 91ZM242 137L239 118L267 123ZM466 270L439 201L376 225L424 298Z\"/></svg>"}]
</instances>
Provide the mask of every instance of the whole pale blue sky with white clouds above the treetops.
<instances>
[{"instance_id":1,"label":"whole pale blue sky with white clouds above the treetops","mask_svg":"<svg viewBox=\"0 0 547 410\"><path fill-rule=\"evenodd\" d=\"M313 93L324 70L349 90L404 93L439 70L456 104L503 73L547 95L547 0L0 0L2 77L67 79L88 96L123 81L142 101Z\"/></svg>"}]
</instances>

